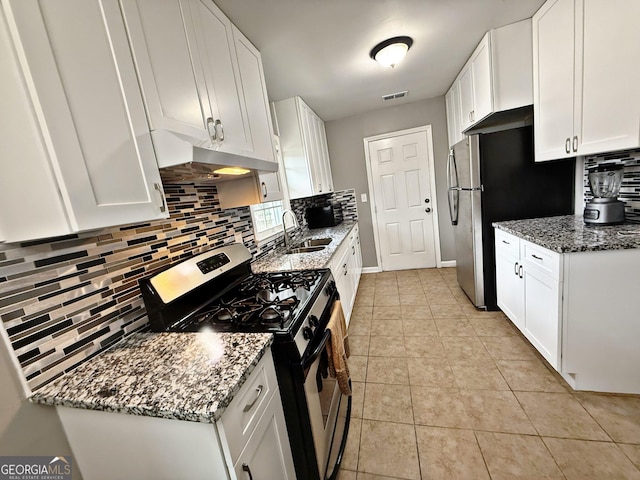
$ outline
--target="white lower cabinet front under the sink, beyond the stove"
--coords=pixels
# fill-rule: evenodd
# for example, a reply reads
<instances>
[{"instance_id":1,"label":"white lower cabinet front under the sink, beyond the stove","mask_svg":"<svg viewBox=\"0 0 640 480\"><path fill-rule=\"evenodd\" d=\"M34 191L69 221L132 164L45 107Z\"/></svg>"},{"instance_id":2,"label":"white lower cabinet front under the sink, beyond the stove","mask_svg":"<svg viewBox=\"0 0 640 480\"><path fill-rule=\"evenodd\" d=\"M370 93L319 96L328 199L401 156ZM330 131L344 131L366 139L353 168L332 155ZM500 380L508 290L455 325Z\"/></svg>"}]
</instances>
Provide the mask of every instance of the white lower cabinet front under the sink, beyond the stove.
<instances>
[{"instance_id":1,"label":"white lower cabinet front under the sink, beyond the stove","mask_svg":"<svg viewBox=\"0 0 640 480\"><path fill-rule=\"evenodd\" d=\"M330 263L331 274L336 281L340 294L342 309L347 325L351 319L351 312L355 302L360 276L362 274L362 254L360 250L360 230L358 225L353 227L349 235L333 254Z\"/></svg>"}]
</instances>

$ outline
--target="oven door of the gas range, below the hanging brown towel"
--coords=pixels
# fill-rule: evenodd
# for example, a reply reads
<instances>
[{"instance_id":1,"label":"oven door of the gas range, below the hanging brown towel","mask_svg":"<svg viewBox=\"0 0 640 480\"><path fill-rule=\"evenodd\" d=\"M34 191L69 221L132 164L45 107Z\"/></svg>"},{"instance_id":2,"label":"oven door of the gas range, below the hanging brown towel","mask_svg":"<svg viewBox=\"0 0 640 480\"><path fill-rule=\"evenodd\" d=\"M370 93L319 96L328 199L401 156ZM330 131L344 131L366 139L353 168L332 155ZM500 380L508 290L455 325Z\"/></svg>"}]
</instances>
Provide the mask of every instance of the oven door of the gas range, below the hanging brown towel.
<instances>
[{"instance_id":1,"label":"oven door of the gas range, below the hanging brown towel","mask_svg":"<svg viewBox=\"0 0 640 480\"><path fill-rule=\"evenodd\" d=\"M342 394L337 380L328 372L330 336L331 332L325 330L305 362L308 370L305 368L304 390L321 479L334 479L338 475L351 418L351 397Z\"/></svg>"}]
</instances>

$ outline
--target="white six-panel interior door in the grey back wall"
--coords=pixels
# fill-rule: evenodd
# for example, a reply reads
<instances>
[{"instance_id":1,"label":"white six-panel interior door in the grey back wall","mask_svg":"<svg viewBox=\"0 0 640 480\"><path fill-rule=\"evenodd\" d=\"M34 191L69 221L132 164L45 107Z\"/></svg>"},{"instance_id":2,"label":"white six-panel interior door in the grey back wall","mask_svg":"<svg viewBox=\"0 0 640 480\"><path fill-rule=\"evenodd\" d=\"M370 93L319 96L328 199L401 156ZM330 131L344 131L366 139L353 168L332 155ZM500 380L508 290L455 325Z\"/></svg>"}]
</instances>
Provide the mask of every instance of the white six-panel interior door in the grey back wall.
<instances>
[{"instance_id":1,"label":"white six-panel interior door in the grey back wall","mask_svg":"<svg viewBox=\"0 0 640 480\"><path fill-rule=\"evenodd\" d=\"M430 126L370 137L365 144L382 270L435 267L437 218Z\"/></svg>"}]
</instances>

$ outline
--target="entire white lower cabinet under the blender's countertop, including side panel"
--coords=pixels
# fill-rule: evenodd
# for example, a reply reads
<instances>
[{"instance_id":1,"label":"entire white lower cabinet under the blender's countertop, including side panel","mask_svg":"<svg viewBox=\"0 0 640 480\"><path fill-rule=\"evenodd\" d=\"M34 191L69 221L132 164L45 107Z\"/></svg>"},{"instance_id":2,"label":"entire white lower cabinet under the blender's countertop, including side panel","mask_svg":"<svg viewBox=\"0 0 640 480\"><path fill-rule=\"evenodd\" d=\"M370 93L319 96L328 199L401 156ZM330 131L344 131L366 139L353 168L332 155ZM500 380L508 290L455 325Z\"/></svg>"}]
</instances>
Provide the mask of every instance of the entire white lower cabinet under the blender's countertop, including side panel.
<instances>
[{"instance_id":1,"label":"entire white lower cabinet under the blender's countertop, including side panel","mask_svg":"<svg viewBox=\"0 0 640 480\"><path fill-rule=\"evenodd\" d=\"M640 394L640 249L558 254L501 230L495 245L498 306L569 385Z\"/></svg>"}]
</instances>

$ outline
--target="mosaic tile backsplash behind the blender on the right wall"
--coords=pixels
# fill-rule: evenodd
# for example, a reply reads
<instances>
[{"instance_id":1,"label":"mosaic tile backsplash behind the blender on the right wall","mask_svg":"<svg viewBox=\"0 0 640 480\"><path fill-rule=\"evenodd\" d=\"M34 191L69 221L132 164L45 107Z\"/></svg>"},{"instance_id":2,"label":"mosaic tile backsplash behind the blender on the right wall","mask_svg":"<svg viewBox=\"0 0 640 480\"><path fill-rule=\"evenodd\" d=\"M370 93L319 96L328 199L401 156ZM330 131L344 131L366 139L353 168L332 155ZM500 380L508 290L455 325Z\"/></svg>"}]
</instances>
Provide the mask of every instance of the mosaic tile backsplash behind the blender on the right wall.
<instances>
[{"instance_id":1,"label":"mosaic tile backsplash behind the blender on the right wall","mask_svg":"<svg viewBox=\"0 0 640 480\"><path fill-rule=\"evenodd\" d=\"M593 198L587 178L589 167L612 162L624 165L624 178L618 199L625 202L626 219L629 222L640 223L640 150L623 150L585 157L584 200L588 202Z\"/></svg>"}]
</instances>

